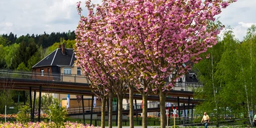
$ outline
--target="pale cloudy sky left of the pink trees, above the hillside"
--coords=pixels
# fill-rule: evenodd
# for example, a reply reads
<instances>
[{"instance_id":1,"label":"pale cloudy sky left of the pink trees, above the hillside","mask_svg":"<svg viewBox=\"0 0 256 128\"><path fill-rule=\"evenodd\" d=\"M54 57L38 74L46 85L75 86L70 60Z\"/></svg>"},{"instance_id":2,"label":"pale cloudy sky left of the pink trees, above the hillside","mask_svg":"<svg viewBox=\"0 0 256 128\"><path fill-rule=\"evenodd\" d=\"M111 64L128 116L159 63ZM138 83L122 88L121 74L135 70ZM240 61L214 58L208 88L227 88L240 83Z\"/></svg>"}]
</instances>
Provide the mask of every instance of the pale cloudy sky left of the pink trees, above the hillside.
<instances>
[{"instance_id":1,"label":"pale cloudy sky left of the pink trees, above the hillside","mask_svg":"<svg viewBox=\"0 0 256 128\"><path fill-rule=\"evenodd\" d=\"M67 32L75 30L79 21L79 0L8 0L0 4L0 34Z\"/></svg>"}]
</instances>

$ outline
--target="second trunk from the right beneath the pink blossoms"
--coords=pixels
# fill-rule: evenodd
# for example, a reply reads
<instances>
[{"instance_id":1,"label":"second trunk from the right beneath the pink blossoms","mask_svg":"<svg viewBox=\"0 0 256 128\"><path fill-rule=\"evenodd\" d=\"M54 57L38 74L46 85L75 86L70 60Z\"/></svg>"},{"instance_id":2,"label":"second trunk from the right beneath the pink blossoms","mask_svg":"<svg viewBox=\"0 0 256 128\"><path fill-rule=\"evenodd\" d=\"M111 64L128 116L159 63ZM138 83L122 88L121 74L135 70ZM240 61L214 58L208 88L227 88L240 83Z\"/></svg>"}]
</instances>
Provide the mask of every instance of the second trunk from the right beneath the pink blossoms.
<instances>
[{"instance_id":1,"label":"second trunk from the right beneath the pink blossoms","mask_svg":"<svg viewBox=\"0 0 256 128\"><path fill-rule=\"evenodd\" d=\"M148 95L142 95L143 108L142 108L142 128L148 127Z\"/></svg>"}]
</instances>

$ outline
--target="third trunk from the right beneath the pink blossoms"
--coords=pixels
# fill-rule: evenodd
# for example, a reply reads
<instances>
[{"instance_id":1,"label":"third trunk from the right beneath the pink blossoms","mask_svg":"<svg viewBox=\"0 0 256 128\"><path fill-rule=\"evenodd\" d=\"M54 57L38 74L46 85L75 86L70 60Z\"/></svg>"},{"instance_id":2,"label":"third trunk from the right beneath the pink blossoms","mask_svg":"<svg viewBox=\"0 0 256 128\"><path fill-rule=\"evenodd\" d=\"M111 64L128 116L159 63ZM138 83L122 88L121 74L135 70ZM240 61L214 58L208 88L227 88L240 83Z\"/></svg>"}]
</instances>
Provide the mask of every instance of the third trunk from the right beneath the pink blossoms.
<instances>
[{"instance_id":1,"label":"third trunk from the right beneath the pink blossoms","mask_svg":"<svg viewBox=\"0 0 256 128\"><path fill-rule=\"evenodd\" d=\"M130 128L134 128L134 88L130 87L129 90L129 117L130 117Z\"/></svg>"}]
</instances>

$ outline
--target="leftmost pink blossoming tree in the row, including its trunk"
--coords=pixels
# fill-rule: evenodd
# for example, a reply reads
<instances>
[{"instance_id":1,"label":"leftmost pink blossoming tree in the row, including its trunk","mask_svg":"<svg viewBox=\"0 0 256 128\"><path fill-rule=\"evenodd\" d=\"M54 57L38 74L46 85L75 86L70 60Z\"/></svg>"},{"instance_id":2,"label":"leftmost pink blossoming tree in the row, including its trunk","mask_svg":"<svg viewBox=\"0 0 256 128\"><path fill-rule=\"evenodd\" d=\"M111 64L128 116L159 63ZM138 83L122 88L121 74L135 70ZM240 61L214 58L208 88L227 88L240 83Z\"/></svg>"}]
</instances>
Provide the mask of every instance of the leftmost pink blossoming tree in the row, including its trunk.
<instances>
[{"instance_id":1,"label":"leftmost pink blossoming tree in the row, including its trunk","mask_svg":"<svg viewBox=\"0 0 256 128\"><path fill-rule=\"evenodd\" d=\"M80 2L77 3L77 6L77 9L79 9ZM97 24L93 19L90 19L90 22L88 23L83 23L83 18L86 19L81 15L81 20L75 31L77 35L77 43L75 45L75 57L77 58L76 64L81 67L88 83L90 83L92 92L101 98L101 127L105 127L106 98L109 95L106 87L110 83L108 76L105 75L106 72L108 72L108 69L103 67L104 58L101 56L103 51L100 51L100 48L97 45L98 41L95 41L95 37L97 37L96 35L99 35L101 32L101 25Z\"/></svg>"}]
</instances>

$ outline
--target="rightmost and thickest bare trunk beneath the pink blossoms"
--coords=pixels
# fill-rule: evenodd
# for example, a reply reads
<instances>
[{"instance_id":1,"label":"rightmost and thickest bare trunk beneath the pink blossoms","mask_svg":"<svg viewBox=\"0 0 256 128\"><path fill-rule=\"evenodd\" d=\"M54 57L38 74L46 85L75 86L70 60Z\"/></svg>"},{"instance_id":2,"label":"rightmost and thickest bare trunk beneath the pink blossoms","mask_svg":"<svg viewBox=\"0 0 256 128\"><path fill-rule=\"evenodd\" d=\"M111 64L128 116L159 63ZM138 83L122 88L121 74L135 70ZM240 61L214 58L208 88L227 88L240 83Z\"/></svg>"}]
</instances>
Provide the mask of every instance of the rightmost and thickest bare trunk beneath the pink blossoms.
<instances>
[{"instance_id":1,"label":"rightmost and thickest bare trunk beneath the pink blossoms","mask_svg":"<svg viewBox=\"0 0 256 128\"><path fill-rule=\"evenodd\" d=\"M160 113L161 113L161 128L165 128L165 126L166 126L166 115L165 115L165 109L166 109L166 107L165 107L165 99L166 99L166 93L164 93L164 92L162 92L161 90L160 90L160 92L159 92L159 97L160 97Z\"/></svg>"}]
</instances>

